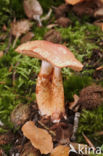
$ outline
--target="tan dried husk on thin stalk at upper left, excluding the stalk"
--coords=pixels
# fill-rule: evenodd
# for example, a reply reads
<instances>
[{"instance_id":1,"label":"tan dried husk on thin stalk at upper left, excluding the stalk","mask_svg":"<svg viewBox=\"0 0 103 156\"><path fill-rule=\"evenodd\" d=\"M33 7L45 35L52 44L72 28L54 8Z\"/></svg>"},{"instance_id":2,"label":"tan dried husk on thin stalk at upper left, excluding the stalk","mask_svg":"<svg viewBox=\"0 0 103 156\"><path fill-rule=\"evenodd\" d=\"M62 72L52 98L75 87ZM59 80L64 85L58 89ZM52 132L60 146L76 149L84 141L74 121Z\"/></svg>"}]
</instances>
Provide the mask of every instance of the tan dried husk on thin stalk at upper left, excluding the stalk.
<instances>
[{"instance_id":1,"label":"tan dried husk on thin stalk at upper left, excluding the stalk","mask_svg":"<svg viewBox=\"0 0 103 156\"><path fill-rule=\"evenodd\" d=\"M11 23L11 33L14 36L21 36L21 34L26 33L30 30L32 24L29 20L20 20L20 21L13 21Z\"/></svg>"}]
</instances>

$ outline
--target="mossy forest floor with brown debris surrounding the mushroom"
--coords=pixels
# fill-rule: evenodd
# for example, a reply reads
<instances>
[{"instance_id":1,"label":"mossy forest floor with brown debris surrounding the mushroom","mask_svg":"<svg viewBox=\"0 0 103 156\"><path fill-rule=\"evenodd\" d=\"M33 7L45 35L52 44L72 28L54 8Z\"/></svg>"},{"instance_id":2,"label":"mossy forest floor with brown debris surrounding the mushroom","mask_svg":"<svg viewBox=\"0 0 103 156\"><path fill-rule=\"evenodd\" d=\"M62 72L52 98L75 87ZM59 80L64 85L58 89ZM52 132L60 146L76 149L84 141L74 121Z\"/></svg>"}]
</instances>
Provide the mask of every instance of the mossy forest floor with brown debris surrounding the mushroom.
<instances>
[{"instance_id":1,"label":"mossy forest floor with brown debris surrounding the mushroom","mask_svg":"<svg viewBox=\"0 0 103 156\"><path fill-rule=\"evenodd\" d=\"M58 7L62 3L64 1L40 1L44 15L49 8ZM23 153L24 145L27 145L28 141L24 138L21 127L28 120L35 121L38 127L48 129L49 132L55 132L56 137L52 136L54 147L62 144L63 139L66 145L73 142L71 136L75 112L69 105L73 102L75 94L83 96L80 102L83 109L80 110L81 116L74 142L87 145L89 140L103 152L103 31L94 25L97 19L85 14L78 16L70 7L65 15L70 21L65 26L62 22L58 24L54 10L50 18L43 22L42 27L32 20L32 40L45 39L64 44L84 65L81 72L74 72L69 68L62 69L67 120L63 119L59 124L53 124L50 119L44 121L36 105L35 86L40 71L40 60L15 52L15 48L23 42L24 35L17 40L13 48L15 37L11 35L11 23L14 18L17 21L27 19L21 1L14 0L11 4L9 1L4 4L2 2L0 16L0 152L11 156ZM51 29L52 24L57 25ZM25 40L27 41L28 37ZM91 97L87 94L88 88L83 95L80 94L87 86L96 86L95 89L91 89ZM93 99L95 92L100 95L96 94L97 98ZM26 119L23 119L23 115ZM62 138L67 131L69 134Z\"/></svg>"}]
</instances>

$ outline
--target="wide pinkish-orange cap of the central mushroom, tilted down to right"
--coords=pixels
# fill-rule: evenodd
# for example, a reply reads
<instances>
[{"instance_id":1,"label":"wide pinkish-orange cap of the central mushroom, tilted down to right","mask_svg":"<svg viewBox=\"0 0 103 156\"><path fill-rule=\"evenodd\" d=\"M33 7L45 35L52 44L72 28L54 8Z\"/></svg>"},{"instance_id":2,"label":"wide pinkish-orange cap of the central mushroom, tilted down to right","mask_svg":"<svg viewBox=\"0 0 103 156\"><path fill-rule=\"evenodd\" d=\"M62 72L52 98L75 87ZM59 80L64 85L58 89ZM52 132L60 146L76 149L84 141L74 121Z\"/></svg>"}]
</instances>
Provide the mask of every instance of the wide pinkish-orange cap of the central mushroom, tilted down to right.
<instances>
[{"instance_id":1,"label":"wide pinkish-orange cap of the central mushroom, tilted down to right","mask_svg":"<svg viewBox=\"0 0 103 156\"><path fill-rule=\"evenodd\" d=\"M21 44L16 51L46 60L58 68L70 67L75 71L81 71L83 68L83 65L75 58L73 53L61 44L55 44L45 40L35 40Z\"/></svg>"}]
</instances>

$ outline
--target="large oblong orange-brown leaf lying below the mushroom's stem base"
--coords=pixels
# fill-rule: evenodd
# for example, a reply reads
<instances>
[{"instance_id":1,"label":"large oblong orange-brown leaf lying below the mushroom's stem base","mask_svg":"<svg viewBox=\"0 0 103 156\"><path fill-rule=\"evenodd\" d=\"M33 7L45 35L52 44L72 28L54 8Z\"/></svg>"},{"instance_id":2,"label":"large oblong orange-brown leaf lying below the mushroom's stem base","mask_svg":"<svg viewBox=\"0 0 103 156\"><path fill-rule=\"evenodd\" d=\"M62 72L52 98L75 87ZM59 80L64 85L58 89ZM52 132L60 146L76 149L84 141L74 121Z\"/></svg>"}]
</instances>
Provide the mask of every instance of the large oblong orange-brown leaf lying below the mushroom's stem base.
<instances>
[{"instance_id":1,"label":"large oblong orange-brown leaf lying below the mushroom's stem base","mask_svg":"<svg viewBox=\"0 0 103 156\"><path fill-rule=\"evenodd\" d=\"M38 128L32 121L28 121L23 125L22 131L24 136L26 136L32 145L39 149L42 154L48 154L52 151L52 137L46 130Z\"/></svg>"}]
</instances>

